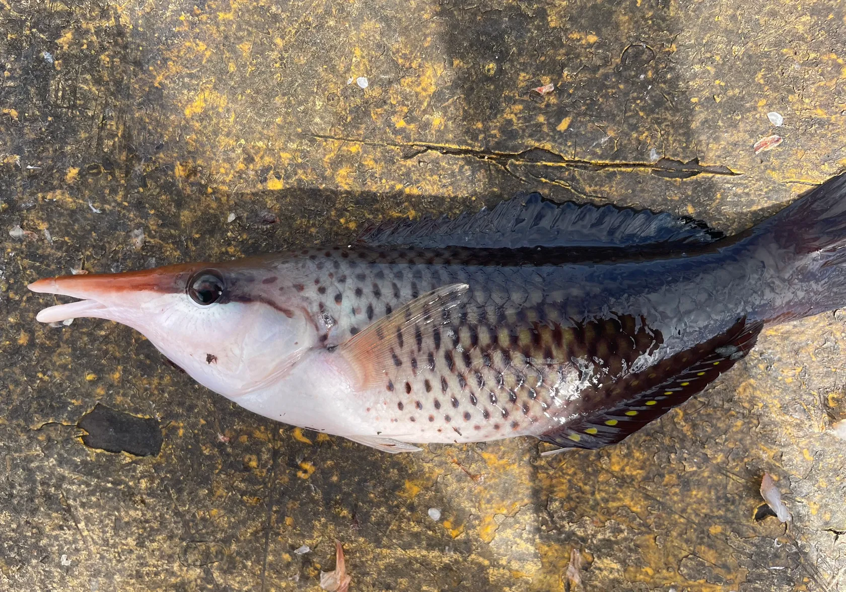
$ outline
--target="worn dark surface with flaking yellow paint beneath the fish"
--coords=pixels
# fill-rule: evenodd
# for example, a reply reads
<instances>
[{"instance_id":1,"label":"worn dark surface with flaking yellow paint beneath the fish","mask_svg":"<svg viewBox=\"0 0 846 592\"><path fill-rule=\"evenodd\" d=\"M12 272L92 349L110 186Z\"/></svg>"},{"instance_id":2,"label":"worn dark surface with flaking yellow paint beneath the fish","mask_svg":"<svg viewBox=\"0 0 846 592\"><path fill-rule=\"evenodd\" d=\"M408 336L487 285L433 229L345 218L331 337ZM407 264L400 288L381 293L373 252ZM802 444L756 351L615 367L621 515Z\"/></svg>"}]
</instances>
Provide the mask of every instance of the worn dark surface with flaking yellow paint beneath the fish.
<instances>
[{"instance_id":1,"label":"worn dark surface with flaking yellow paint beneath the fish","mask_svg":"<svg viewBox=\"0 0 846 592\"><path fill-rule=\"evenodd\" d=\"M247 413L127 327L40 326L52 297L25 289L349 241L526 189L746 227L846 167L844 16L834 0L0 0L0 589L316 590L335 539L354 590L577 589L572 549L586 590L846 587L846 442L827 430L846 417L846 316L766 331L616 447L389 456ZM783 143L755 155L770 134ZM156 419L161 451L86 447L97 403ZM754 519L764 471L787 528Z\"/></svg>"}]
</instances>

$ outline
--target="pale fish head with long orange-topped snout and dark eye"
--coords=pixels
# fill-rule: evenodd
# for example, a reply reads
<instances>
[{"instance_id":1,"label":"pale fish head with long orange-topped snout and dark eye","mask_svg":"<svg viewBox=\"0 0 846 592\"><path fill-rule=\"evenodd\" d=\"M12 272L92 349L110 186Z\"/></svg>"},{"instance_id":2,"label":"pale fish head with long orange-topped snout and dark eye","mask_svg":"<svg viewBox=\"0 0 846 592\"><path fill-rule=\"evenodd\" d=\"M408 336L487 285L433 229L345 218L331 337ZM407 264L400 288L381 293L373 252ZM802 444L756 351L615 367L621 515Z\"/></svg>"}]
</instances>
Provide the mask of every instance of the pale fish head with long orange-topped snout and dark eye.
<instances>
[{"instance_id":1,"label":"pale fish head with long orange-topped snout and dark eye","mask_svg":"<svg viewBox=\"0 0 846 592\"><path fill-rule=\"evenodd\" d=\"M29 288L80 299L41 310L38 321L87 316L130 326L195 381L237 398L272 384L316 343L307 303L286 293L283 272L239 260L50 277Z\"/></svg>"}]
</instances>

